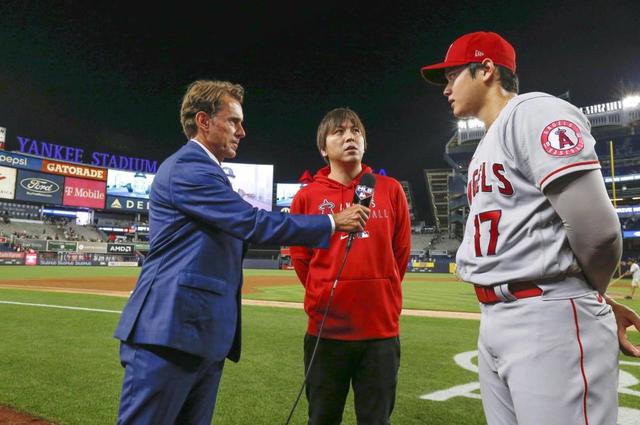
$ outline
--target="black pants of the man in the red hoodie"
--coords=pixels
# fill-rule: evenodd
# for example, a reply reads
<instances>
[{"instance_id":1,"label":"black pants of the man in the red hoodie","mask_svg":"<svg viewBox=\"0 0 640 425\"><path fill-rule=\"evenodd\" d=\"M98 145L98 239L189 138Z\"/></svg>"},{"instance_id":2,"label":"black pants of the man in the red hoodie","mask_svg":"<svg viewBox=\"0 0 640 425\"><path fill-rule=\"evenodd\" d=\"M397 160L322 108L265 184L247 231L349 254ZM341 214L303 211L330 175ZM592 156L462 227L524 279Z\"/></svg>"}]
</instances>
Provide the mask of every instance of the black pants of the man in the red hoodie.
<instances>
[{"instance_id":1,"label":"black pants of the man in the red hoodie","mask_svg":"<svg viewBox=\"0 0 640 425\"><path fill-rule=\"evenodd\" d=\"M305 370L317 338L304 337ZM309 425L338 425L353 386L358 425L388 425L396 398L400 340L320 340L306 386Z\"/></svg>"}]
</instances>

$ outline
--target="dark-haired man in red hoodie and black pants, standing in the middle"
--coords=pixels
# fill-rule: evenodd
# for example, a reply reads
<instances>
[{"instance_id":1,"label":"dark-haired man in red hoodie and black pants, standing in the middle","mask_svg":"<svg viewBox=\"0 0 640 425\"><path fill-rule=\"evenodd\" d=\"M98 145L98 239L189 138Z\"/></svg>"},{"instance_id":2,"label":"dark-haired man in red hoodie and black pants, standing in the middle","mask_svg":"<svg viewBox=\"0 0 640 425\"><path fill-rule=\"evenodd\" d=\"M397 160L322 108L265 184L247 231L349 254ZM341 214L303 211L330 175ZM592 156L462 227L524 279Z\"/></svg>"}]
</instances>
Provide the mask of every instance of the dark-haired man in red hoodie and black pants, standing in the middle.
<instances>
[{"instance_id":1,"label":"dark-haired man in red hoodie and black pants, standing in the middle","mask_svg":"<svg viewBox=\"0 0 640 425\"><path fill-rule=\"evenodd\" d=\"M348 108L330 111L317 133L329 164L296 194L291 213L332 214L349 207L360 178L372 170L362 163L365 129ZM309 316L304 338L305 370L316 344L331 287L348 234L336 232L328 249L291 247L305 287ZM400 365L399 319L402 278L411 249L407 200L395 179L376 175L371 212L347 258L309 371L309 424L340 424L350 384L359 424L389 424Z\"/></svg>"}]
</instances>

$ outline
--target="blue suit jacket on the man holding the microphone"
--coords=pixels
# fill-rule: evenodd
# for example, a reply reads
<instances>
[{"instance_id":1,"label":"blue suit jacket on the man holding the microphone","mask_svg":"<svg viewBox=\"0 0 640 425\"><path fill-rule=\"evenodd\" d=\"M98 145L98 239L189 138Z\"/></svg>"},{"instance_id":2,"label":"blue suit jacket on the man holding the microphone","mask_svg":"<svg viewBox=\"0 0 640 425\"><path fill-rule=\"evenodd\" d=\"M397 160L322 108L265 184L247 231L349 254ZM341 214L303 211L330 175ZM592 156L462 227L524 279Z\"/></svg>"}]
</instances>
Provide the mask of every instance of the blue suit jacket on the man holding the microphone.
<instances>
[{"instance_id":1,"label":"blue suit jacket on the man holding the microphone","mask_svg":"<svg viewBox=\"0 0 640 425\"><path fill-rule=\"evenodd\" d=\"M240 358L245 241L327 247L328 217L269 213L244 201L188 142L158 169L150 250L115 337L213 360Z\"/></svg>"}]
</instances>

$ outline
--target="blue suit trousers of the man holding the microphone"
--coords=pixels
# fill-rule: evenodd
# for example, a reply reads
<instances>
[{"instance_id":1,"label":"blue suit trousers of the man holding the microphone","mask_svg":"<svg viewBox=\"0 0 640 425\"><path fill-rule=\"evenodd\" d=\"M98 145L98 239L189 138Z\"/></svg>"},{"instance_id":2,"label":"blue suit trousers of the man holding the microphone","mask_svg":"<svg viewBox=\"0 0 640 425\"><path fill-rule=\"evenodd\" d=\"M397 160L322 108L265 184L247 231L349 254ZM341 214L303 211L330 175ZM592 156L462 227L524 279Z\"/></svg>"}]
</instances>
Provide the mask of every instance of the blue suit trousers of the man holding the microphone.
<instances>
[{"instance_id":1,"label":"blue suit trousers of the man holding the microphone","mask_svg":"<svg viewBox=\"0 0 640 425\"><path fill-rule=\"evenodd\" d=\"M224 360L122 342L118 425L210 425Z\"/></svg>"}]
</instances>

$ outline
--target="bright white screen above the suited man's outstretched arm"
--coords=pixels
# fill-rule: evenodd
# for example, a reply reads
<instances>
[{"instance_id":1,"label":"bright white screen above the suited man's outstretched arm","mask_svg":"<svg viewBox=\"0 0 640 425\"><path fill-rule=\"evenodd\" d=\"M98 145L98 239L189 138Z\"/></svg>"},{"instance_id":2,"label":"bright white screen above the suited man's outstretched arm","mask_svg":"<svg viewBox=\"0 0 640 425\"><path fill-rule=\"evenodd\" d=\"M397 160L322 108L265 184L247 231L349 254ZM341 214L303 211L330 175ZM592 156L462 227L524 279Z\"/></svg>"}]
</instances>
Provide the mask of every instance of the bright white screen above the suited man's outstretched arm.
<instances>
[{"instance_id":1,"label":"bright white screen above the suited man's outstretched arm","mask_svg":"<svg viewBox=\"0 0 640 425\"><path fill-rule=\"evenodd\" d=\"M271 211L273 202L273 165L225 162L222 170L233 190L256 208Z\"/></svg>"}]
</instances>

